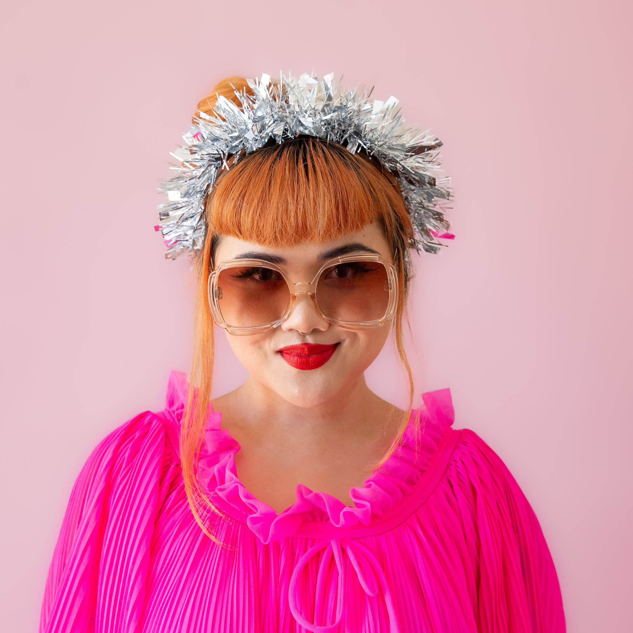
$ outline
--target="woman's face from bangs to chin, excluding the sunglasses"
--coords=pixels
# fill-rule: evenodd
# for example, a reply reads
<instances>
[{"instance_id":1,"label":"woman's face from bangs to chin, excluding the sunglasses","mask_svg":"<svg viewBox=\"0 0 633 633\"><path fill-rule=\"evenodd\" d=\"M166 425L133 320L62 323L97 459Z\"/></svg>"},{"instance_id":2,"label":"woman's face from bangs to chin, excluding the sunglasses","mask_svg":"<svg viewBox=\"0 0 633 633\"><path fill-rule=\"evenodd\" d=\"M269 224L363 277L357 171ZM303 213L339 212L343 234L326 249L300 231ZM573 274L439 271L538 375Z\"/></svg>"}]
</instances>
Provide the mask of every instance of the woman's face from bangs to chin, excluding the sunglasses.
<instances>
[{"instance_id":1,"label":"woman's face from bangs to chin, excluding the sunglasses","mask_svg":"<svg viewBox=\"0 0 633 633\"><path fill-rule=\"evenodd\" d=\"M341 239L287 248L267 248L223 236L216 249L215 265L245 254L248 258L269 261L273 256L273 261L292 282L311 282L330 258L368 253L379 253L392 262L391 248L382 229L375 223ZM325 404L349 391L379 354L387 335L389 323L365 330L348 330L332 325L318 315L308 294L298 294L291 315L275 329L251 335L227 332L227 339L251 379L289 403L307 408ZM334 348L333 352L326 349L318 354L318 360L307 362L284 351L287 346L301 343ZM327 356L329 359L323 363Z\"/></svg>"}]
</instances>

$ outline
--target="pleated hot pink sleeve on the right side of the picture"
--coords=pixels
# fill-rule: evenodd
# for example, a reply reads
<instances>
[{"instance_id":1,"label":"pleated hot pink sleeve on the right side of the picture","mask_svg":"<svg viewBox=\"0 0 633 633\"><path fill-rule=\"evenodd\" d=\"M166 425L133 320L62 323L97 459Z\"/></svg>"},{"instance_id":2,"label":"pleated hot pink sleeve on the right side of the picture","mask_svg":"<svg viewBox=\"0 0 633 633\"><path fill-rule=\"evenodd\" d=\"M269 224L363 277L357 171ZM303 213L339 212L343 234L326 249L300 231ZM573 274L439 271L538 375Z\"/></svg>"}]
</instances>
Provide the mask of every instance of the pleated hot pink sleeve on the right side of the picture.
<instances>
[{"instance_id":1,"label":"pleated hot pink sleeve on the right side of the picture","mask_svg":"<svg viewBox=\"0 0 633 633\"><path fill-rule=\"evenodd\" d=\"M470 430L449 465L467 541L477 558L481 633L561 633L556 570L534 511L503 461Z\"/></svg>"}]
</instances>

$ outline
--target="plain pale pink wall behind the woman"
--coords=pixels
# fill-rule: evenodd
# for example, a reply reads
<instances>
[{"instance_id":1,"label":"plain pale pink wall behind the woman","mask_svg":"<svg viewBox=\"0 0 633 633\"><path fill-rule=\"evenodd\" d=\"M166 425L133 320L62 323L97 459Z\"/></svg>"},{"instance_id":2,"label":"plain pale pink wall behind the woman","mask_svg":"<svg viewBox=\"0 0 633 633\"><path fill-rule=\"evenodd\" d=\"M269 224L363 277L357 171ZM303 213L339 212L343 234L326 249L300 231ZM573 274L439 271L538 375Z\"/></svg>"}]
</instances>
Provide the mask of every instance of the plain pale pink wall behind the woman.
<instances>
[{"instance_id":1,"label":"plain pale pink wall behind the woman","mask_svg":"<svg viewBox=\"0 0 633 633\"><path fill-rule=\"evenodd\" d=\"M450 386L457 425L517 477L553 553L569 630L632 630L631 7L5 8L3 630L36 627L91 449L161 408L169 370L189 367L189 264L163 260L152 228L168 151L216 80L279 68L375 85L445 142L457 239L417 260L418 385ZM220 343L217 392L243 375ZM402 401L391 349L369 374Z\"/></svg>"}]
</instances>

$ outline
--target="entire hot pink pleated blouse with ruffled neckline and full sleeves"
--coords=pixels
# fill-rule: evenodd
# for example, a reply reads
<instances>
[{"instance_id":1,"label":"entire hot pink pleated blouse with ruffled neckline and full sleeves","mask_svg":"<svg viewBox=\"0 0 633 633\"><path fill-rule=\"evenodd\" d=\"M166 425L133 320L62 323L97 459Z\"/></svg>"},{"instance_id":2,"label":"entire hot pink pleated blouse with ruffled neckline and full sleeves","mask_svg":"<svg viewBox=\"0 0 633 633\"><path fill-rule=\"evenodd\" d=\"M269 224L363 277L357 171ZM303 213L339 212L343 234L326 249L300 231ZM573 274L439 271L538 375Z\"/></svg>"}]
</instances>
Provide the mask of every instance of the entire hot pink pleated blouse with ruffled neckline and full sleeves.
<instances>
[{"instance_id":1,"label":"entire hot pink pleated blouse with ruffled neckline and full sleeves","mask_svg":"<svg viewBox=\"0 0 633 633\"><path fill-rule=\"evenodd\" d=\"M539 523L498 456L424 394L355 507L297 487L277 515L242 486L239 444L210 415L200 473L224 516L194 520L178 456L184 374L167 406L106 437L80 473L42 606L42 633L561 632Z\"/></svg>"}]
</instances>

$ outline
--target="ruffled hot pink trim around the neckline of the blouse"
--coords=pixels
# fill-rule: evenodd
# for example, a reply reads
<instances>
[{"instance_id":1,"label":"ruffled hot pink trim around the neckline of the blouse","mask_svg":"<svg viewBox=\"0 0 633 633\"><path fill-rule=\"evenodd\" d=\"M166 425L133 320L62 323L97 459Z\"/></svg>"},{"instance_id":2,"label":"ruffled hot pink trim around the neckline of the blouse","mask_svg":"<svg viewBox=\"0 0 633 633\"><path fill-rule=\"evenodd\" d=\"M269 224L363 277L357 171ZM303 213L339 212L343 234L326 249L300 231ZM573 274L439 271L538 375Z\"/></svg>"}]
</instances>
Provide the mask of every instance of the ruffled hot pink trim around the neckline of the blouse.
<instances>
[{"instance_id":1,"label":"ruffled hot pink trim around the neckline of the blouse","mask_svg":"<svg viewBox=\"0 0 633 633\"><path fill-rule=\"evenodd\" d=\"M187 375L172 372L169 379L166 410L175 426L180 426L187 401ZM420 481L437 452L437 446L454 420L449 389L422 395L423 405L415 413L404 436L387 461L372 472L362 487L352 488L354 505L346 506L327 492L312 491L299 484L294 505L277 514L267 503L255 498L238 479L235 453L239 442L222 429L222 413L213 411L208 418L199 453L198 476L201 485L218 508L237 518L264 543L278 541L296 532L303 522L330 523L332 527L369 525L373 518L398 505Z\"/></svg>"}]
</instances>

